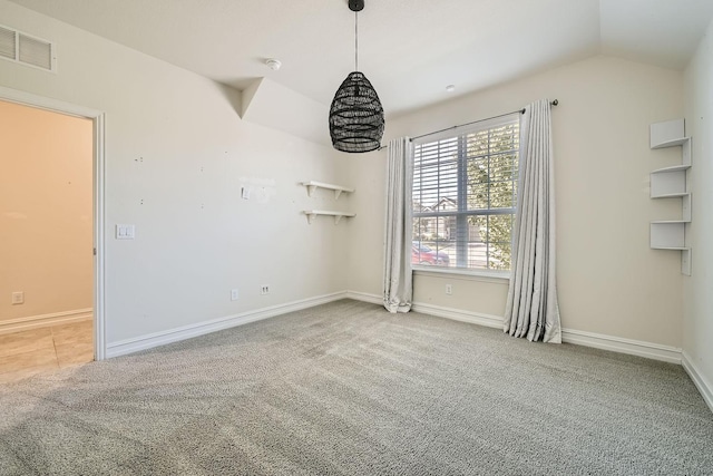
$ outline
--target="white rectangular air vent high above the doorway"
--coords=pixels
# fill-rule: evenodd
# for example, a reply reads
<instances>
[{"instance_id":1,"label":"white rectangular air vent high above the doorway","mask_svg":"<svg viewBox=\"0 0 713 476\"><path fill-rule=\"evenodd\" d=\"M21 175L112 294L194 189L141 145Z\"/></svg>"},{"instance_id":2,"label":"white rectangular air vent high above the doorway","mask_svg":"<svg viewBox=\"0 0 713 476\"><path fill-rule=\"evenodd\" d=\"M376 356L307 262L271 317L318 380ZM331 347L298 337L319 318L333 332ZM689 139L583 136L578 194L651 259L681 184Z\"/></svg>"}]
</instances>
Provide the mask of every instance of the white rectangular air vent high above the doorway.
<instances>
[{"instance_id":1,"label":"white rectangular air vent high above the doorway","mask_svg":"<svg viewBox=\"0 0 713 476\"><path fill-rule=\"evenodd\" d=\"M55 71L57 61L51 41L22 33L0 25L0 58L35 68Z\"/></svg>"}]
</instances>

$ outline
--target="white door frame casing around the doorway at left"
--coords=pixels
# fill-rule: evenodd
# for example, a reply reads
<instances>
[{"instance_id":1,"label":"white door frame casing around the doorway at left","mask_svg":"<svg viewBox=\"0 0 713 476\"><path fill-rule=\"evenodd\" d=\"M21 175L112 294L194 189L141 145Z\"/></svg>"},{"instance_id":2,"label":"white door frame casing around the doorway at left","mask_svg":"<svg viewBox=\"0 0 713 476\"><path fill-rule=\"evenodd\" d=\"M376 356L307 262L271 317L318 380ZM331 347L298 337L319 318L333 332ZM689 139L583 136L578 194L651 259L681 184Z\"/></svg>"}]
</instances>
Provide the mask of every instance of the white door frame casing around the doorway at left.
<instances>
[{"instance_id":1,"label":"white door frame casing around the doorway at left","mask_svg":"<svg viewBox=\"0 0 713 476\"><path fill-rule=\"evenodd\" d=\"M0 99L92 122L94 357L106 359L105 322L105 114L100 110L0 86Z\"/></svg>"}]
</instances>

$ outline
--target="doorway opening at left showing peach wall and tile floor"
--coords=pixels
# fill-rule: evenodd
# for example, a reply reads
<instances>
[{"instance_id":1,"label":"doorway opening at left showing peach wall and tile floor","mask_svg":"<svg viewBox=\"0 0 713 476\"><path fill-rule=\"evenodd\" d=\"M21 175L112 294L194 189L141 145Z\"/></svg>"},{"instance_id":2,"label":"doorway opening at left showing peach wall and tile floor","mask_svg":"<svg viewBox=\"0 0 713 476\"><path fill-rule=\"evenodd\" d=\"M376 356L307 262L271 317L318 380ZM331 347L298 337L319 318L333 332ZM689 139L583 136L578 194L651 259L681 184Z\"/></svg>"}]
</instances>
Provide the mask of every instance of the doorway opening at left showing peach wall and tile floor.
<instances>
[{"instance_id":1,"label":"doorway opening at left showing peach wall and tile floor","mask_svg":"<svg viewBox=\"0 0 713 476\"><path fill-rule=\"evenodd\" d=\"M0 88L0 380L102 360L104 116Z\"/></svg>"}]
</instances>

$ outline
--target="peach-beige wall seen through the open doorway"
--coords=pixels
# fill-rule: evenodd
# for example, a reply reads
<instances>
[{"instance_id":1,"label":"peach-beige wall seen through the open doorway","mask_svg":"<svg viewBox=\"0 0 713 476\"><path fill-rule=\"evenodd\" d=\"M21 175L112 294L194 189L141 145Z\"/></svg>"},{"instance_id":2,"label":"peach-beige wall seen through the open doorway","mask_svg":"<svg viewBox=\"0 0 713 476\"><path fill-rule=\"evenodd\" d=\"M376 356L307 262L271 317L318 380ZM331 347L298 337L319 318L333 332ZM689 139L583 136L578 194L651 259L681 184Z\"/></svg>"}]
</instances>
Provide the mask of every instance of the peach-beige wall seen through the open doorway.
<instances>
[{"instance_id":1,"label":"peach-beige wall seen through the open doorway","mask_svg":"<svg viewBox=\"0 0 713 476\"><path fill-rule=\"evenodd\" d=\"M91 122L0 101L0 321L91 308Z\"/></svg>"}]
</instances>

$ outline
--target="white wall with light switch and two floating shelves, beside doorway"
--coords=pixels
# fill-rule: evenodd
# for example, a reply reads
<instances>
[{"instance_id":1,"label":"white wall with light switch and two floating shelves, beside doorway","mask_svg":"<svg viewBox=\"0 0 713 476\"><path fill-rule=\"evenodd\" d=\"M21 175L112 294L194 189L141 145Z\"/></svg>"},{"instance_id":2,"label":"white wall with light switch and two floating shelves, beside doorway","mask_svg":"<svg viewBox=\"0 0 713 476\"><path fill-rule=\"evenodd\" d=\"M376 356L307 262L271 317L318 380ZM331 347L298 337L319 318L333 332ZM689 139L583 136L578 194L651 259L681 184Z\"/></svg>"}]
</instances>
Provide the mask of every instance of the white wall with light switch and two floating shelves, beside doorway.
<instances>
[{"instance_id":1,"label":"white wall with light switch and two floating shelves, beside doorway","mask_svg":"<svg viewBox=\"0 0 713 476\"><path fill-rule=\"evenodd\" d=\"M109 344L346 288L350 223L307 225L330 198L299 185L342 182L340 154L241 120L240 93L201 76L4 0L0 18L59 52L57 74L0 60L0 86L106 113Z\"/></svg>"}]
</instances>

